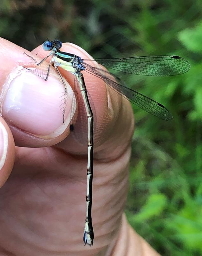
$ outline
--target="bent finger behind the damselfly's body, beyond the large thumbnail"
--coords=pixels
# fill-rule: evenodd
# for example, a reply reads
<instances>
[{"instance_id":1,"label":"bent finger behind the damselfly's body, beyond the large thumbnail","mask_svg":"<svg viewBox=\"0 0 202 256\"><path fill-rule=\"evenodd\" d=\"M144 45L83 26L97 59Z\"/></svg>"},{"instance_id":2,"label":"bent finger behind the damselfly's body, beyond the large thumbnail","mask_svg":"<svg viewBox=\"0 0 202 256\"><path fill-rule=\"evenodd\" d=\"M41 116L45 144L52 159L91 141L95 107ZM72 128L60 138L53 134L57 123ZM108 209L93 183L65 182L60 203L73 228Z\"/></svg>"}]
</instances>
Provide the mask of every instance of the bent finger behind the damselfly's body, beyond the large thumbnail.
<instances>
[{"instance_id":1,"label":"bent finger behind the damselfly's body, beyond the large thumbnail","mask_svg":"<svg viewBox=\"0 0 202 256\"><path fill-rule=\"evenodd\" d=\"M62 44L61 51L73 53L82 59L92 59L87 52L74 44ZM34 49L33 53L38 53L41 58L47 55L41 46ZM97 63L90 65L105 69ZM60 71L62 76L74 87L74 76L70 76L69 72L62 68ZM117 157L126 150L133 134L134 121L130 103L109 88L100 78L85 70L82 73L94 115L94 148L97 152L95 157L105 158L105 160L107 160L106 157L110 159ZM60 143L60 147L73 153L86 154L88 122L82 97L79 97L77 103L79 113L75 130L72 135Z\"/></svg>"}]
</instances>

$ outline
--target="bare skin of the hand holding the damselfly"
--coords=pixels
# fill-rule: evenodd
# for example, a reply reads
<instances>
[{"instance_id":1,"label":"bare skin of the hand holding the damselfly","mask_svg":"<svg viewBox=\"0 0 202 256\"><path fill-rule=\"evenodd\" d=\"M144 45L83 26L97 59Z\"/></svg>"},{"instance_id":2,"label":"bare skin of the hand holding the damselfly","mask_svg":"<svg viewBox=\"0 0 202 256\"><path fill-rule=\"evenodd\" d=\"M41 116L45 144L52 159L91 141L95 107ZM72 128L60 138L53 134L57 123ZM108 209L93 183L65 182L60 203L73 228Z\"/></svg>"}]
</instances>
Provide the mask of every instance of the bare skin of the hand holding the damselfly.
<instances>
[{"instance_id":1,"label":"bare skin of the hand holding the damselfly","mask_svg":"<svg viewBox=\"0 0 202 256\"><path fill-rule=\"evenodd\" d=\"M35 58L37 53L38 60L49 52L39 46L30 53L2 38L0 45L4 60L0 63L0 255L159 255L135 233L123 213L134 130L130 103L84 72L95 116L95 239L93 246L83 246L87 123L82 98L78 93L73 115L70 97L62 124L58 95L64 89L54 68L47 82L22 68L32 66L24 52ZM69 43L61 51L91 58ZM60 71L70 92L74 76Z\"/></svg>"}]
</instances>

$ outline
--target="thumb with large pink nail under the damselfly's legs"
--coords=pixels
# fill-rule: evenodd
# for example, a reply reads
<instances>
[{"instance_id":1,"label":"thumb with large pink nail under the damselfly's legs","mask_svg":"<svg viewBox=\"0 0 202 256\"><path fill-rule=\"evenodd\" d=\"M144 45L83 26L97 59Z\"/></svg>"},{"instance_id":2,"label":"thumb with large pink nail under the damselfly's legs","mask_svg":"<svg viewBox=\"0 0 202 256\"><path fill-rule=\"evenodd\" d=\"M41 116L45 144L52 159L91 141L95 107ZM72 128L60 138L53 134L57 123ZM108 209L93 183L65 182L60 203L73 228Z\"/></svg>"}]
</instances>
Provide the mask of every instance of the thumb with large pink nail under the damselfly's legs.
<instances>
[{"instance_id":1,"label":"thumb with large pink nail under the damselfly's legs","mask_svg":"<svg viewBox=\"0 0 202 256\"><path fill-rule=\"evenodd\" d=\"M51 70L48 81L44 81L23 68L23 65L32 66L32 60L23 54L23 48L3 38L0 38L0 44L4 60L0 63L0 103L16 145L44 147L63 140L69 133L69 124L63 124L60 105L64 88L58 76ZM68 83L67 91L68 102L71 102L73 91ZM71 104L66 108L65 120L71 113L69 106Z\"/></svg>"}]
</instances>

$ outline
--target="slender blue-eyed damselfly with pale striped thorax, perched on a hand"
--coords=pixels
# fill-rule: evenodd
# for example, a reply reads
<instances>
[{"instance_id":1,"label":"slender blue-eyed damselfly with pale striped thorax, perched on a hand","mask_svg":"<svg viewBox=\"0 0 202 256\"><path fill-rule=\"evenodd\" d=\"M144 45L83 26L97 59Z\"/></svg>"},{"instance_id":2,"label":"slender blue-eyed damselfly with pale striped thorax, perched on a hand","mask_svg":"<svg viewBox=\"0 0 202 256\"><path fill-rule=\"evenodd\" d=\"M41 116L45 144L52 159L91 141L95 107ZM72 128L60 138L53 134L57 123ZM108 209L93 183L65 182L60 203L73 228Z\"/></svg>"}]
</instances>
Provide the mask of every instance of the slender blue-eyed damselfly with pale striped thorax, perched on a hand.
<instances>
[{"instance_id":1,"label":"slender blue-eyed damselfly with pale striped thorax, perched on a hand","mask_svg":"<svg viewBox=\"0 0 202 256\"><path fill-rule=\"evenodd\" d=\"M79 84L80 91L83 97L83 101L86 108L86 114L88 118L88 160L87 160L87 196L86 196L86 219L84 227L83 242L88 245L93 244L94 233L91 218L91 208L92 208L92 180L93 180L93 112L90 106L90 101L88 98L88 92L86 90L85 80L83 77L83 71L97 76L102 79L107 85L109 85L113 90L118 92L120 95L128 99L130 102L134 103L138 107L147 111L148 113L157 116L163 120L171 121L173 117L171 113L162 104L156 102L144 96L139 92L135 92L132 89L125 87L124 85L117 82L117 79L108 71L102 68L92 67L91 63L99 63L105 67L112 68L125 73L145 75L145 76L173 76L179 75L187 72L190 69L190 64L187 60L172 55L162 55L162 56L143 56L143 57L130 57L123 59L81 59L81 57L76 56L71 53L61 52L62 43L59 40L45 41L43 43L43 49L45 51L50 51L49 55L37 63L32 56L32 60L37 66L40 66L48 57L52 56L47 74L42 77L44 80L48 79L50 67L53 65L62 81L65 88L65 99L67 93L67 87L65 80L61 76L58 67L61 67L75 75L75 87ZM27 54L26 54L27 55ZM28 68L29 69L29 68ZM29 69L31 70L31 69ZM32 70L31 70L32 71ZM38 73L37 75L40 76ZM64 102L63 109L63 122L65 114ZM72 126L70 125L70 130Z\"/></svg>"}]
</instances>

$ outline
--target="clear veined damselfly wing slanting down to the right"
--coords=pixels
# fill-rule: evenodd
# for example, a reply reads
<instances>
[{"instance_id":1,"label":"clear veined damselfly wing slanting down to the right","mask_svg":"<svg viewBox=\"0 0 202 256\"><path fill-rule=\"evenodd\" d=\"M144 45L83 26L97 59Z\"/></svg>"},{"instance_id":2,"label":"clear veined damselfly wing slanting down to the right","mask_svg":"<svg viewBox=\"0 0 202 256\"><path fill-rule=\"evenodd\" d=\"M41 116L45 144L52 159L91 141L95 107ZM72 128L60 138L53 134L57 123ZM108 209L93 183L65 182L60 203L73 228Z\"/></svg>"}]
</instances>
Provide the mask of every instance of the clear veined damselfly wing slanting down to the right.
<instances>
[{"instance_id":1,"label":"clear veined damselfly wing slanting down to the right","mask_svg":"<svg viewBox=\"0 0 202 256\"><path fill-rule=\"evenodd\" d=\"M148 98L139 92L133 91L132 89L129 89L122 84L118 84L115 77L111 73L100 68L91 67L88 64L86 64L85 71L105 81L105 83L108 84L113 90L118 92L120 95L125 97L139 108L142 108L148 113L163 120L173 120L171 113L162 104Z\"/></svg>"}]
</instances>

